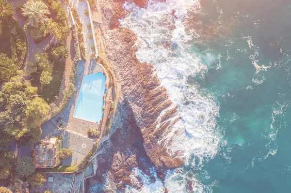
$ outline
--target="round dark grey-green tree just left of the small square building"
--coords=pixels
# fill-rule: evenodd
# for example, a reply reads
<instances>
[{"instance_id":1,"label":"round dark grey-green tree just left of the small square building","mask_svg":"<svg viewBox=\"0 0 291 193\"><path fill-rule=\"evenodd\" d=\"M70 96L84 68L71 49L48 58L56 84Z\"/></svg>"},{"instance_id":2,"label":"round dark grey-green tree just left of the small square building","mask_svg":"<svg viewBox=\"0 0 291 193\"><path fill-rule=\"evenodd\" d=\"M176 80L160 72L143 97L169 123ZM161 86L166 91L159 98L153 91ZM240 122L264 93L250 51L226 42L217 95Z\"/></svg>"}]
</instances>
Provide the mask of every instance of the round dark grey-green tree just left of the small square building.
<instances>
[{"instance_id":1,"label":"round dark grey-green tree just left of the small square building","mask_svg":"<svg viewBox=\"0 0 291 193\"><path fill-rule=\"evenodd\" d=\"M32 158L27 156L17 161L16 172L21 176L30 176L34 173L35 167L32 163Z\"/></svg>"}]
</instances>

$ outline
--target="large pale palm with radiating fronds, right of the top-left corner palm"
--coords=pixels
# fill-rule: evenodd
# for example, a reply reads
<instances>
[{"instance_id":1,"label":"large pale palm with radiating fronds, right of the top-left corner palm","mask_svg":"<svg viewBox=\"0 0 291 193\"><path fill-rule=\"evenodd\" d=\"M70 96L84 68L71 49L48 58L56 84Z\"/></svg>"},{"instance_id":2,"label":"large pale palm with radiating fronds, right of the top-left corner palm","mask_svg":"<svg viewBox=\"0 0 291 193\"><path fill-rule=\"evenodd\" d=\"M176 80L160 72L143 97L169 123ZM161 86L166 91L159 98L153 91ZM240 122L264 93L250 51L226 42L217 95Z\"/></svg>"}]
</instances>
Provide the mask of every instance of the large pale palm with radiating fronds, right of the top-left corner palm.
<instances>
[{"instance_id":1,"label":"large pale palm with radiating fronds, right of the top-left corner palm","mask_svg":"<svg viewBox=\"0 0 291 193\"><path fill-rule=\"evenodd\" d=\"M23 5L22 15L27 17L26 25L38 28L38 23L48 22L48 6L42 1L28 1Z\"/></svg>"}]
</instances>

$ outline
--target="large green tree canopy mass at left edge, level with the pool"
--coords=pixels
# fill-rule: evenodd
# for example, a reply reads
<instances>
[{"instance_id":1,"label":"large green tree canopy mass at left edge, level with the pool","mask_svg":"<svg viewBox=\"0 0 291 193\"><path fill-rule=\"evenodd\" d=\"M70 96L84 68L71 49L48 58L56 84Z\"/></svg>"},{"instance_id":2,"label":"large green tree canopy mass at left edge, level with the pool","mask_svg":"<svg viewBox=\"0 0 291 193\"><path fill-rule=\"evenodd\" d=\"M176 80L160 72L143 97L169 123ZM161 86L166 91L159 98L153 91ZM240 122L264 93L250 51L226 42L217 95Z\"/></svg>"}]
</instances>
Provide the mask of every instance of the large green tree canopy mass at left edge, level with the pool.
<instances>
[{"instance_id":1,"label":"large green tree canopy mass at left edge, level with the pool","mask_svg":"<svg viewBox=\"0 0 291 193\"><path fill-rule=\"evenodd\" d=\"M0 140L0 146L11 139L19 145L33 144L39 139L40 125L48 116L50 107L36 92L37 88L23 77L22 71L17 71L16 76L2 85L0 133L7 136Z\"/></svg>"}]
</instances>

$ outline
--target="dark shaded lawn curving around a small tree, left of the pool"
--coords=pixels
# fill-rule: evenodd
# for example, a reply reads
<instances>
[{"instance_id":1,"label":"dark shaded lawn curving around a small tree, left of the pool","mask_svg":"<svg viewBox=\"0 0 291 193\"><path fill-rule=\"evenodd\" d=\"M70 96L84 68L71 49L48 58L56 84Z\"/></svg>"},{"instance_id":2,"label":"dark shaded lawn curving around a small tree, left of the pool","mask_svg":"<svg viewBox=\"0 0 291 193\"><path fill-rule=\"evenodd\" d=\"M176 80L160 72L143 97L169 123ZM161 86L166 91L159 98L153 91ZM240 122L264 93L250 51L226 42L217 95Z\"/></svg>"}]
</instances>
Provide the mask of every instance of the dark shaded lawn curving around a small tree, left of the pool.
<instances>
[{"instance_id":1,"label":"dark shaded lawn curving around a small tree, left of the pool","mask_svg":"<svg viewBox=\"0 0 291 193\"><path fill-rule=\"evenodd\" d=\"M57 46L57 45L56 45ZM50 47L46 53L50 54L51 49ZM65 61L60 60L53 60L49 55L49 61L53 64L53 70L52 70L52 81L49 85L45 85L43 88L41 88L40 85L40 73L32 73L33 80L31 81L32 86L38 88L38 94L41 95L41 97L47 101L48 103L52 103L56 100L56 98L59 96L59 91L63 79L63 74L65 70ZM40 72L40 71L38 71Z\"/></svg>"}]
</instances>

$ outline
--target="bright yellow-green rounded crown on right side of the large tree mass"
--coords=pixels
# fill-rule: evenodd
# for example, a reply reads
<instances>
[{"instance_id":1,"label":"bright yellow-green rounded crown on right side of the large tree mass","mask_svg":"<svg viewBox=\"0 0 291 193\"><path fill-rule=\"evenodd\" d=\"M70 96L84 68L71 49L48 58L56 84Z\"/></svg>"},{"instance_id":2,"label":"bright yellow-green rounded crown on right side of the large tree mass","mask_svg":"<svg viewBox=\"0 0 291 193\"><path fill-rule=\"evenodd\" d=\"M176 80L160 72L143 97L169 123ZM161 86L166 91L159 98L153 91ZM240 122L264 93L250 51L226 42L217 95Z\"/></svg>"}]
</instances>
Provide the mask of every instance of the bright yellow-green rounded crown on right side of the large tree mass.
<instances>
[{"instance_id":1,"label":"bright yellow-green rounded crown on right side of the large tree mass","mask_svg":"<svg viewBox=\"0 0 291 193\"><path fill-rule=\"evenodd\" d=\"M49 104L43 98L35 97L26 101L25 115L27 117L27 125L30 128L39 127L42 121L49 113Z\"/></svg>"}]
</instances>

